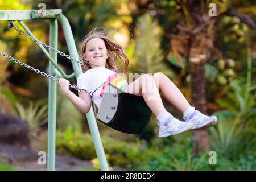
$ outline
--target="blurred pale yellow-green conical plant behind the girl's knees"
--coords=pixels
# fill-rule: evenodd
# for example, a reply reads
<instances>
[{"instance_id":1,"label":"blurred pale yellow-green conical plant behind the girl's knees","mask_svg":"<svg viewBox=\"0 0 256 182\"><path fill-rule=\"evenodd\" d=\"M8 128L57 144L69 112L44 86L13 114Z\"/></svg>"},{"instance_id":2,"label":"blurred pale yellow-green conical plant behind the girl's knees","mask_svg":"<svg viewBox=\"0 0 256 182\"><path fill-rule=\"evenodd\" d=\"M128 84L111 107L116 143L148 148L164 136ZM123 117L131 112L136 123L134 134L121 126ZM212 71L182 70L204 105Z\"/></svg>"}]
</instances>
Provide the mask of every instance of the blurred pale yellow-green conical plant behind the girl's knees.
<instances>
[{"instance_id":1,"label":"blurred pale yellow-green conical plant behind the girl's knees","mask_svg":"<svg viewBox=\"0 0 256 182\"><path fill-rule=\"evenodd\" d=\"M137 19L135 32L135 49L130 61L130 71L150 74L163 72L168 77L175 77L174 72L163 63L164 55L160 48L163 30L157 20L154 20L149 14L140 16Z\"/></svg>"}]
</instances>

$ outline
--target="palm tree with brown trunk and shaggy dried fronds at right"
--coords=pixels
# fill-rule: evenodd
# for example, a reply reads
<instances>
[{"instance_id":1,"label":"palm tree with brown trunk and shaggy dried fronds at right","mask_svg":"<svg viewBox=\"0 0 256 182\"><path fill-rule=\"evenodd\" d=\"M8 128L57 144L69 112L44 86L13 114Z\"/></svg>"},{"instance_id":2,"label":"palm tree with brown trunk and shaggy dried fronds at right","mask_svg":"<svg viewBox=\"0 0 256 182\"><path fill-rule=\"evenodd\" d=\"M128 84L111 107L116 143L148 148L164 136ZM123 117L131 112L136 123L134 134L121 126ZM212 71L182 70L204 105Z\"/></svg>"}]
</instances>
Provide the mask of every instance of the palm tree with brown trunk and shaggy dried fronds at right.
<instances>
[{"instance_id":1,"label":"palm tree with brown trunk and shaggy dried fronds at right","mask_svg":"<svg viewBox=\"0 0 256 182\"><path fill-rule=\"evenodd\" d=\"M181 65L183 64L182 56L189 60L192 105L202 113L206 113L205 63L221 57L220 48L214 39L216 20L226 15L237 16L254 30L256 26L248 16L229 10L228 3L219 2L218 5L225 8L224 11L218 11L217 17L210 17L208 11L205 11L208 9L209 1L177 1L177 4L181 7L184 21L176 25L175 28L178 31L176 35L169 35L172 51ZM203 149L209 151L207 129L193 131L193 149L195 154Z\"/></svg>"}]
</instances>

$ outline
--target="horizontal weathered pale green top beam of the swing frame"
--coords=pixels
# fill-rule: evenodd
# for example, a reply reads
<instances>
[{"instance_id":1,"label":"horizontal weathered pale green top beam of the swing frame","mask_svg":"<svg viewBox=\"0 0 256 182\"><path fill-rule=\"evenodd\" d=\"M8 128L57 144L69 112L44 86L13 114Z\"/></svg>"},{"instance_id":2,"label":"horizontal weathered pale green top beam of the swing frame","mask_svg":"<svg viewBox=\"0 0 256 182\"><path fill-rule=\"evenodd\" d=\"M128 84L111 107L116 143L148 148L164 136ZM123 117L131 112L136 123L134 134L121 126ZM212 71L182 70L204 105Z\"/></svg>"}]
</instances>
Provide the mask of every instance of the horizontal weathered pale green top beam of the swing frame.
<instances>
[{"instance_id":1,"label":"horizontal weathered pale green top beam of the swing frame","mask_svg":"<svg viewBox=\"0 0 256 182\"><path fill-rule=\"evenodd\" d=\"M0 20L51 19L62 14L62 10L0 10Z\"/></svg>"}]
</instances>

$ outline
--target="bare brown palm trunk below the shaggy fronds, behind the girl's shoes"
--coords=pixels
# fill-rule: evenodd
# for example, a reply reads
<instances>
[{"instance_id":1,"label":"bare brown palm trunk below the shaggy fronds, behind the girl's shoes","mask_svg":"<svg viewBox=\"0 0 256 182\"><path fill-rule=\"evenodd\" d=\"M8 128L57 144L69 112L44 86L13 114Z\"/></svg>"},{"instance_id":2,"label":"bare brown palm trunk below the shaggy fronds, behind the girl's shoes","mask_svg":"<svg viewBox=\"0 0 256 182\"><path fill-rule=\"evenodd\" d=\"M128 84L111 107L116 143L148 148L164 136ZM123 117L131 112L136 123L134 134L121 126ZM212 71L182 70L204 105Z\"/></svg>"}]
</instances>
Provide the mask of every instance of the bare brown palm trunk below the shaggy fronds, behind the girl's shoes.
<instances>
[{"instance_id":1,"label":"bare brown palm trunk below the shaggy fronds, behind the girl's shoes","mask_svg":"<svg viewBox=\"0 0 256 182\"><path fill-rule=\"evenodd\" d=\"M205 100L205 60L206 55L196 53L197 51L191 49L191 100L192 106L205 114L206 100ZM209 140L207 129L200 129L193 131L193 152L199 154L203 151L209 151Z\"/></svg>"}]
</instances>

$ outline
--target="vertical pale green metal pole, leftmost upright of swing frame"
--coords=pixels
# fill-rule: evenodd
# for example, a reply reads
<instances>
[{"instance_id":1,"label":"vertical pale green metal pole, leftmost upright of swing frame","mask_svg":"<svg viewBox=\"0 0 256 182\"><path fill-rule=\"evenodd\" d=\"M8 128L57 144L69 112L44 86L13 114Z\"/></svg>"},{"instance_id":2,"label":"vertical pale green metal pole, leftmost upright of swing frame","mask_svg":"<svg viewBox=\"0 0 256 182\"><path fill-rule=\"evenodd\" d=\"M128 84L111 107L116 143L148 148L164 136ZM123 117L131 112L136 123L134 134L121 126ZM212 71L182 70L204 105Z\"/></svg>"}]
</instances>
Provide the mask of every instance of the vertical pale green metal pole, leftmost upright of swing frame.
<instances>
[{"instance_id":1,"label":"vertical pale green metal pole, leftmost upright of swing frame","mask_svg":"<svg viewBox=\"0 0 256 182\"><path fill-rule=\"evenodd\" d=\"M58 24L57 20L50 20L50 46L57 49L58 42ZM50 56L57 64L57 53L50 51ZM49 61L49 75L55 76L55 67ZM47 154L47 170L55 170L55 141L56 141L56 90L57 82L49 79L48 93L48 154Z\"/></svg>"}]
</instances>

